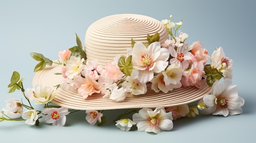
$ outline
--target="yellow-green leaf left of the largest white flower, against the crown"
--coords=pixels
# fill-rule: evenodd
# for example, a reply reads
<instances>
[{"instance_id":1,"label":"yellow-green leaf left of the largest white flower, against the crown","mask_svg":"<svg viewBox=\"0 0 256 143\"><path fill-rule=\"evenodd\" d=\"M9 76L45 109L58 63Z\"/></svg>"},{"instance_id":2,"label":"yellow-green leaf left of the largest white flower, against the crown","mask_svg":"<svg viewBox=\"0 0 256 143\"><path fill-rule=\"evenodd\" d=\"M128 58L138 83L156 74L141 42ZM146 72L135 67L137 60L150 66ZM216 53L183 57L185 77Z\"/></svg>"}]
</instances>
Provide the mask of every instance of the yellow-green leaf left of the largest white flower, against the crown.
<instances>
[{"instance_id":1,"label":"yellow-green leaf left of the largest white flower, against the crown","mask_svg":"<svg viewBox=\"0 0 256 143\"><path fill-rule=\"evenodd\" d=\"M130 55L126 61L125 61L125 57L124 55L121 56L118 60L118 66L121 70L122 73L124 73L125 75L131 75L132 73L132 55Z\"/></svg>"}]
</instances>

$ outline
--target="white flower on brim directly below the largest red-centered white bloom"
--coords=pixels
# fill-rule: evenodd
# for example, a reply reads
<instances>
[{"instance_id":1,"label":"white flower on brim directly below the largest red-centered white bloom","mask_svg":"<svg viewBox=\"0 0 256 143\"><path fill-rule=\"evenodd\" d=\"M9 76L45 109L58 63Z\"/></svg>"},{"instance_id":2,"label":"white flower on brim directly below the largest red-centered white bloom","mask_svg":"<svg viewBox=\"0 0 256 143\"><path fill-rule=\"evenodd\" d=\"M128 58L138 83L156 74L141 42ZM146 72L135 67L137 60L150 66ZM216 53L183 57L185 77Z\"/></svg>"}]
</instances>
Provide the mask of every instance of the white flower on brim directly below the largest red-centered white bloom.
<instances>
[{"instance_id":1,"label":"white flower on brim directly below the largest red-centered white bloom","mask_svg":"<svg viewBox=\"0 0 256 143\"><path fill-rule=\"evenodd\" d=\"M147 85L141 84L137 79L129 77L128 80L124 81L124 86L131 88L132 95L144 95L147 92Z\"/></svg>"}]
</instances>

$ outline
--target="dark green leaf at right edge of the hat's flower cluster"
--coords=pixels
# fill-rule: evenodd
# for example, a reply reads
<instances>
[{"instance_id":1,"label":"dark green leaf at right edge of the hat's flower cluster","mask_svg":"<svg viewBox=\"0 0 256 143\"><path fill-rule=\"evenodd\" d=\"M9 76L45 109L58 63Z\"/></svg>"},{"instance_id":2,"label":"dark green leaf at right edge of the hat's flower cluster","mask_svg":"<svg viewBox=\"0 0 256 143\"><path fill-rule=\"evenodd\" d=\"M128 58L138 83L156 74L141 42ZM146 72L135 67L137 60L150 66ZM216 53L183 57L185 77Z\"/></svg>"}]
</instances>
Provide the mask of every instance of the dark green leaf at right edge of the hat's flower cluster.
<instances>
[{"instance_id":1,"label":"dark green leaf at right edge of the hat's flower cluster","mask_svg":"<svg viewBox=\"0 0 256 143\"><path fill-rule=\"evenodd\" d=\"M223 75L216 68L211 68L210 65L204 66L204 72L206 77L207 84L211 87L216 80L220 80Z\"/></svg>"}]
</instances>

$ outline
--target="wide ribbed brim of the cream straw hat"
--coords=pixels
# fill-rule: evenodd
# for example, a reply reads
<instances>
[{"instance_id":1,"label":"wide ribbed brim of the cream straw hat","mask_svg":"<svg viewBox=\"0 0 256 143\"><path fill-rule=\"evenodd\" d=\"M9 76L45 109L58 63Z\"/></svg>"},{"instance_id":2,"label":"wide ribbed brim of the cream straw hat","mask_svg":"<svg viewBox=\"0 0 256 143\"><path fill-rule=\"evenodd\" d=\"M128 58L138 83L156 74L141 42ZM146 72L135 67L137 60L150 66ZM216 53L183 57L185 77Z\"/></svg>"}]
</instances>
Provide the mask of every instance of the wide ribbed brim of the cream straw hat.
<instances>
[{"instance_id":1,"label":"wide ribbed brim of the cream straw hat","mask_svg":"<svg viewBox=\"0 0 256 143\"><path fill-rule=\"evenodd\" d=\"M33 78L33 86L41 84L43 86L56 86L63 80L61 73L62 65L53 64L43 70L36 72ZM113 110L127 108L156 108L179 106L197 101L211 92L205 80L202 80L202 88L187 86L164 93L155 92L148 85L145 95L127 94L126 99L121 102L113 101L102 94L92 94L87 99L83 99L77 90L63 90L58 88L52 100L58 106L75 110Z\"/></svg>"}]
</instances>

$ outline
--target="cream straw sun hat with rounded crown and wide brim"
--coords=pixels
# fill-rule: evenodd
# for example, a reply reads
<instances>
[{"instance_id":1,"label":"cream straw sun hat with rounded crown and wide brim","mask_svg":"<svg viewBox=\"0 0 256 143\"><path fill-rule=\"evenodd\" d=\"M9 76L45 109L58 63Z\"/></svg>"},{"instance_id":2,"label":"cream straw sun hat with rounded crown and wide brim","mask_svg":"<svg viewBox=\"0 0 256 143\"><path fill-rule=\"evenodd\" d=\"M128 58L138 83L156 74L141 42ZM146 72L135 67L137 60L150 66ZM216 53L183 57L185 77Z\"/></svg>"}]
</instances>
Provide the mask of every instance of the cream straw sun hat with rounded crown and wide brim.
<instances>
[{"instance_id":1,"label":"cream straw sun hat with rounded crown and wide brim","mask_svg":"<svg viewBox=\"0 0 256 143\"><path fill-rule=\"evenodd\" d=\"M159 33L160 43L168 39L168 34L162 22L144 15L119 14L97 20L91 24L85 35L85 53L88 60L97 59L99 65L105 65L114 57L123 54L131 48L131 38L136 42L147 42L147 35ZM63 77L62 65L53 64L38 71L33 79L33 86L56 86ZM77 110L111 110L125 108L156 108L170 107L197 101L210 93L211 88L202 80L202 88L181 87L164 93L155 92L147 85L145 95L132 96L128 93L121 102L113 101L102 94L93 94L83 99L77 90L58 88L53 103Z\"/></svg>"}]
</instances>

